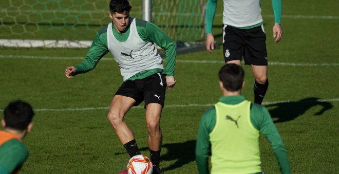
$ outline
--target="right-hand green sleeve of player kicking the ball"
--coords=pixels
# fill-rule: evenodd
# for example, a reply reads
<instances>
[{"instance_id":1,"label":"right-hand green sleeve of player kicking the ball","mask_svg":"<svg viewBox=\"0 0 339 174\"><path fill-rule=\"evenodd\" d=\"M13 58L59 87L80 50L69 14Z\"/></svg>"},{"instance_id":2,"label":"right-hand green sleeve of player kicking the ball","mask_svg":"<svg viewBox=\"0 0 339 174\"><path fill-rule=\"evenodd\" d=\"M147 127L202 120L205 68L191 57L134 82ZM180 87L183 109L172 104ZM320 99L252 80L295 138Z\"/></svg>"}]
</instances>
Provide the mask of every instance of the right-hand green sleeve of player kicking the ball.
<instances>
[{"instance_id":1,"label":"right-hand green sleeve of player kicking the ball","mask_svg":"<svg viewBox=\"0 0 339 174\"><path fill-rule=\"evenodd\" d=\"M138 22L138 21L137 21ZM139 24L137 24L138 26ZM177 47L175 42L158 26L147 22L145 27L137 28L139 36L144 41L155 43L165 51L166 55L166 76L174 76Z\"/></svg>"}]
</instances>

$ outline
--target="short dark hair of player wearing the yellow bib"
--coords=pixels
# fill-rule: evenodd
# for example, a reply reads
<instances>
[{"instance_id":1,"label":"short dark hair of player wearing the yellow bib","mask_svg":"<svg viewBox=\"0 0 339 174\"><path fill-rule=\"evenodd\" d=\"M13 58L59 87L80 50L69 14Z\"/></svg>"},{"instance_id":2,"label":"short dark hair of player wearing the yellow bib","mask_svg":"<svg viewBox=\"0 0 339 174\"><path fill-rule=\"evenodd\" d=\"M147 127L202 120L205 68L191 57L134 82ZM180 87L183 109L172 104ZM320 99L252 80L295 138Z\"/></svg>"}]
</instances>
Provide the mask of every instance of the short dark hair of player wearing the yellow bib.
<instances>
[{"instance_id":1,"label":"short dark hair of player wearing the yellow bib","mask_svg":"<svg viewBox=\"0 0 339 174\"><path fill-rule=\"evenodd\" d=\"M225 64L219 71L219 80L223 87L230 92L241 90L245 72L237 64Z\"/></svg>"}]
</instances>

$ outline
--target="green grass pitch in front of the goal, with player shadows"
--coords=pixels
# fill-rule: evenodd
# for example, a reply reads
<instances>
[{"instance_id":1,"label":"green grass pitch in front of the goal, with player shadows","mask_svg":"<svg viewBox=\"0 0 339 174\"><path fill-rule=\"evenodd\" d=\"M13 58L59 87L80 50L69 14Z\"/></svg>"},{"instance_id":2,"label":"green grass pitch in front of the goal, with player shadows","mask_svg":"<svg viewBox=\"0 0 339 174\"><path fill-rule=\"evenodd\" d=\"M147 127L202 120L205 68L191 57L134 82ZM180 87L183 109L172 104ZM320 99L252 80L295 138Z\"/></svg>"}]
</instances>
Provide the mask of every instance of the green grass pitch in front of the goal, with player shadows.
<instances>
[{"instance_id":1,"label":"green grass pitch in front of the goal, with player shadows","mask_svg":"<svg viewBox=\"0 0 339 174\"><path fill-rule=\"evenodd\" d=\"M264 15L272 14L270 3L262 2ZM335 34L339 3L319 3L283 1L284 15L336 18L283 17L284 36L279 44L272 37L273 18L264 17L271 64L263 104L284 140L293 173L339 172L339 36ZM216 18L215 35L220 34L220 24L221 18ZM220 42L220 37L216 40ZM112 96L122 83L116 62L103 59L87 74L72 79L64 75L67 66L81 61L72 57L86 53L87 49L0 48L0 109L11 100L23 99L36 113L32 132L24 139L30 156L22 173L117 173L125 168L128 155L106 118ZM166 173L197 173L198 123L221 96L217 73L222 59L222 49L177 56L178 83L167 91L161 118L161 167ZM253 75L249 66L244 69L242 94L253 100ZM125 118L142 153L148 155L144 112L142 107L132 108ZM260 145L262 170L278 173L273 150L264 137Z\"/></svg>"}]
</instances>

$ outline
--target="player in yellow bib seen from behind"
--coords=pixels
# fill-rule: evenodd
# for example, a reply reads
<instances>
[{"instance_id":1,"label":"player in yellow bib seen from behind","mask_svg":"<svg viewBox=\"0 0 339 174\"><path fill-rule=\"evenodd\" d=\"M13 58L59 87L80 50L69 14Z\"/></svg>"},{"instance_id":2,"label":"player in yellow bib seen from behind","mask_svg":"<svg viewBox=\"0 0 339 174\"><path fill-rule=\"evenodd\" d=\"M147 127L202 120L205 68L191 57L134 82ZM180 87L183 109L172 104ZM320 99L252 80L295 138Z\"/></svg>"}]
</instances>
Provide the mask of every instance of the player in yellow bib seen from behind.
<instances>
[{"instance_id":1,"label":"player in yellow bib seen from behind","mask_svg":"<svg viewBox=\"0 0 339 174\"><path fill-rule=\"evenodd\" d=\"M264 135L277 157L281 173L291 173L286 149L267 109L240 95L244 71L225 64L219 71L223 96L200 120L196 142L199 173L261 173L259 135Z\"/></svg>"}]
</instances>

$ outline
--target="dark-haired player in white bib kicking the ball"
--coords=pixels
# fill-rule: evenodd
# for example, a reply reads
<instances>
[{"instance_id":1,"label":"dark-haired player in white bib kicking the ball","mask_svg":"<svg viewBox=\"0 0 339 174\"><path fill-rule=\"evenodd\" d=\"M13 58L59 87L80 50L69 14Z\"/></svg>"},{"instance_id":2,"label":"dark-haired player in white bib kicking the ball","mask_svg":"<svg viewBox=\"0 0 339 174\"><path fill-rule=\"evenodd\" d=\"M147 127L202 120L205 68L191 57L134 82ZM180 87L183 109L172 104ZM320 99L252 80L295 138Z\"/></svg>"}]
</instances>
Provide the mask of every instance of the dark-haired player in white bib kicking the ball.
<instances>
[{"instance_id":1,"label":"dark-haired player in white bib kicking the ball","mask_svg":"<svg viewBox=\"0 0 339 174\"><path fill-rule=\"evenodd\" d=\"M96 67L101 57L111 52L120 67L123 83L111 101L107 118L129 156L139 155L134 134L124 121L124 116L132 106L145 101L150 159L154 173L161 173L160 116L165 90L172 90L176 84L173 76L176 45L156 25L130 17L131 8L127 0L111 0L108 15L112 23L100 29L86 58L77 66L67 67L65 74L71 78L86 73ZM155 44L165 51L165 69Z\"/></svg>"}]
</instances>

